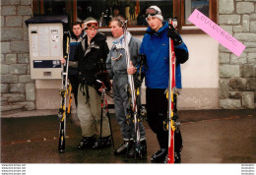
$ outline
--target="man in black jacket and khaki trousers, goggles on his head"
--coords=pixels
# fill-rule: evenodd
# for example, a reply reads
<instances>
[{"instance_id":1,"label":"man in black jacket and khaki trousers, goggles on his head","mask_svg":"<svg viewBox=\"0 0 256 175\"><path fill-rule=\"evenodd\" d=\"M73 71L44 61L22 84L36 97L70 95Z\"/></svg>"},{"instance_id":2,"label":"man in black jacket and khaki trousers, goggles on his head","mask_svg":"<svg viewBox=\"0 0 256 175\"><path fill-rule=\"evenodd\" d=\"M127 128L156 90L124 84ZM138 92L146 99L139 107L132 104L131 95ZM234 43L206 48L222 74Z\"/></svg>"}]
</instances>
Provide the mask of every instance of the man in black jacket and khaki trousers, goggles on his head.
<instances>
[{"instance_id":1,"label":"man in black jacket and khaki trousers, goggles on his head","mask_svg":"<svg viewBox=\"0 0 256 175\"><path fill-rule=\"evenodd\" d=\"M104 64L109 52L106 36L97 32L98 23L94 18L84 22L87 35L78 45L74 58L78 61L79 90L78 90L78 118L82 129L82 141L78 148L93 146L94 148L111 145L109 122L105 110L102 114L102 130L100 134L100 105L101 87L96 75L101 71L100 64ZM100 135L100 137L96 136ZM96 141L97 140L97 141Z\"/></svg>"}]
</instances>

